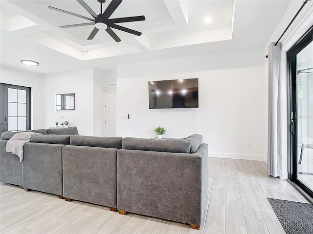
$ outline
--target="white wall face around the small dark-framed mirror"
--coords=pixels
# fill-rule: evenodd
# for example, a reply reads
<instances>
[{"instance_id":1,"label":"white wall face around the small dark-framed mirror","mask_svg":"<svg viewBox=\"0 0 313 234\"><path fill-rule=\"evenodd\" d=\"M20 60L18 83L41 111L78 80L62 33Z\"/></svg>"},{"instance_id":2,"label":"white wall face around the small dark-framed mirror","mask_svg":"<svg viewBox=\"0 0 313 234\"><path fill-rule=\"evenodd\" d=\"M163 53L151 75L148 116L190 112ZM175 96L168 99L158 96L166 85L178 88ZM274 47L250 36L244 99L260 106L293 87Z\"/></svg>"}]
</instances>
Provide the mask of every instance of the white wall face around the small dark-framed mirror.
<instances>
[{"instance_id":1,"label":"white wall face around the small dark-framed mirror","mask_svg":"<svg viewBox=\"0 0 313 234\"><path fill-rule=\"evenodd\" d=\"M93 85L93 69L44 75L45 128L67 120L79 135L93 136ZM68 93L75 93L75 110L56 111L55 95Z\"/></svg>"}]
</instances>

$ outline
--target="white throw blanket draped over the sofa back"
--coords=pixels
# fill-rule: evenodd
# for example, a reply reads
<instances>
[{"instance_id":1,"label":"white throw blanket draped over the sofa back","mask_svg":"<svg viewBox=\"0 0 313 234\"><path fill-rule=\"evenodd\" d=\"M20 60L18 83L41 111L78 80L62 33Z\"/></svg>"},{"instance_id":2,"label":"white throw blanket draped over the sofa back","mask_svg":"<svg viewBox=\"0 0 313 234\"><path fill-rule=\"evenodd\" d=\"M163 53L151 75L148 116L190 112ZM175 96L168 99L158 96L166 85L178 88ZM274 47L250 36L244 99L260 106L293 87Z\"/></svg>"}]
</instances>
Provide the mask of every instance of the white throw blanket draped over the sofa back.
<instances>
[{"instance_id":1,"label":"white throw blanket draped over the sofa back","mask_svg":"<svg viewBox=\"0 0 313 234\"><path fill-rule=\"evenodd\" d=\"M6 143L5 151L15 154L20 157L20 162L24 156L24 144L30 141L30 137L33 135L42 135L41 133L17 133Z\"/></svg>"}]
</instances>

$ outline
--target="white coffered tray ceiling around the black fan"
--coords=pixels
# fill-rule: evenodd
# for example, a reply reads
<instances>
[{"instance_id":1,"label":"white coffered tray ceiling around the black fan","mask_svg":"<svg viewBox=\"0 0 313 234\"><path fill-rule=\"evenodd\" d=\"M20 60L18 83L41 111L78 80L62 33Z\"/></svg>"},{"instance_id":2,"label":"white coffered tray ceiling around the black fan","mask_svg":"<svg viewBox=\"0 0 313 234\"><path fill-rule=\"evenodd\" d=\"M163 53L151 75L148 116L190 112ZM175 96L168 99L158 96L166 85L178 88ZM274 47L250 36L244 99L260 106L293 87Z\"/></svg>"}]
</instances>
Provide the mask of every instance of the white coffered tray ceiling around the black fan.
<instances>
[{"instance_id":1,"label":"white coffered tray ceiling around the black fan","mask_svg":"<svg viewBox=\"0 0 313 234\"><path fill-rule=\"evenodd\" d=\"M100 12L97 0L85 0ZM111 0L103 4L105 9ZM94 26L62 29L89 22L48 6L91 17L76 0L0 0L0 63L49 74L203 53L264 47L290 0L123 0L111 18L144 15L145 21L120 23L140 37L113 29L87 40ZM205 17L210 23L204 23ZM91 17L92 18L92 17ZM88 52L84 53L83 49ZM35 60L38 67L21 64Z\"/></svg>"}]
</instances>

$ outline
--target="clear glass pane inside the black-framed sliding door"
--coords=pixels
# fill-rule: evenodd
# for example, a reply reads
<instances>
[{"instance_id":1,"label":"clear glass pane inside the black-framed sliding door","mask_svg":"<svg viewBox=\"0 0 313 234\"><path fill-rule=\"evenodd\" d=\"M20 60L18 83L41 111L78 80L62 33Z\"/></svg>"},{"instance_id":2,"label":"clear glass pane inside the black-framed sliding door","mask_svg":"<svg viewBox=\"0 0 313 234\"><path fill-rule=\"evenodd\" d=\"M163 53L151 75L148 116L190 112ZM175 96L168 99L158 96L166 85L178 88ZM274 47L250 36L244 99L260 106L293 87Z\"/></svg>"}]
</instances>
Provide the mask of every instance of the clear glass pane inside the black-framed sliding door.
<instances>
[{"instance_id":1,"label":"clear glass pane inside the black-framed sliding door","mask_svg":"<svg viewBox=\"0 0 313 234\"><path fill-rule=\"evenodd\" d=\"M313 190L313 43L296 54L297 179Z\"/></svg>"}]
</instances>

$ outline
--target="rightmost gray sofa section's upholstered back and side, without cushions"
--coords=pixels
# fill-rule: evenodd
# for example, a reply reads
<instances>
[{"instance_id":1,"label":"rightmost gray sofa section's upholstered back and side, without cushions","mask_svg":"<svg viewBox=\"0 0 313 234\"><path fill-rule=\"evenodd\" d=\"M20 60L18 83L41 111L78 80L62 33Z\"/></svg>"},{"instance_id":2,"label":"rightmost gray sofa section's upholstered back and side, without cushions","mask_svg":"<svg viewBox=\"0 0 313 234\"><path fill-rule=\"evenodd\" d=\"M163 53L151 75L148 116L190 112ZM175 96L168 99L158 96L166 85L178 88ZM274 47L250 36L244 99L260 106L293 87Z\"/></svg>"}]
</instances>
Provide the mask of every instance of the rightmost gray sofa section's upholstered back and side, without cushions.
<instances>
[{"instance_id":1,"label":"rightmost gray sofa section's upholstered back and side, without cushions","mask_svg":"<svg viewBox=\"0 0 313 234\"><path fill-rule=\"evenodd\" d=\"M194 154L118 150L117 208L200 225L207 168L207 144Z\"/></svg>"}]
</instances>

